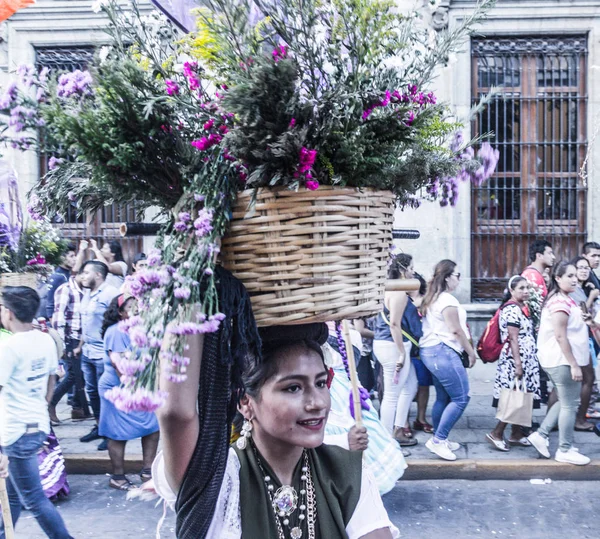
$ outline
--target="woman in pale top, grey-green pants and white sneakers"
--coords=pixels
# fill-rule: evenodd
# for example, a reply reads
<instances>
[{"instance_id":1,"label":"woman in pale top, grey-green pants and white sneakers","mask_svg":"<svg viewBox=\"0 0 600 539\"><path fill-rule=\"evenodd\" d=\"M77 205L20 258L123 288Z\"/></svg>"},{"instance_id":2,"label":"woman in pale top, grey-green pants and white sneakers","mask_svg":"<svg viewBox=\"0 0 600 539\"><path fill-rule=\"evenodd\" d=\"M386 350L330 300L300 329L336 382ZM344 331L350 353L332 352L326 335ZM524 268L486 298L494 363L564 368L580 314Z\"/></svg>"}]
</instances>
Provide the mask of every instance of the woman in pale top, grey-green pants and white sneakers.
<instances>
[{"instance_id":1,"label":"woman in pale top, grey-green pants and white sneakers","mask_svg":"<svg viewBox=\"0 0 600 539\"><path fill-rule=\"evenodd\" d=\"M581 307L569 296L576 288L575 266L564 261L557 264L542 308L537 345L540 365L556 388L558 402L528 439L542 456L550 458L548 436L558 424L559 445L555 459L585 465L590 459L573 449L582 367L590 362L588 327Z\"/></svg>"}]
</instances>

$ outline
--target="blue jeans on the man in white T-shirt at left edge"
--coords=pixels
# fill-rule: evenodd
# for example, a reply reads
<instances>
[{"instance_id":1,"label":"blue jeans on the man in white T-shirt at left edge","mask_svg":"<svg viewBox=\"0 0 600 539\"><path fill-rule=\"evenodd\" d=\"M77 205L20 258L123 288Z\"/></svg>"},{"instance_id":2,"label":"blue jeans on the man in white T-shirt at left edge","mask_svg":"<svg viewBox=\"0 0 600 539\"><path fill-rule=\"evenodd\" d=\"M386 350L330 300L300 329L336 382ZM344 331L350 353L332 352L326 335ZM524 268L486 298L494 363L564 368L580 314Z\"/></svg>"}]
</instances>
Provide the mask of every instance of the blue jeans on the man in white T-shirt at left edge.
<instances>
[{"instance_id":1,"label":"blue jeans on the man in white T-shirt at left edge","mask_svg":"<svg viewBox=\"0 0 600 539\"><path fill-rule=\"evenodd\" d=\"M21 514L21 507L25 507L32 512L50 539L72 539L60 513L46 498L42 489L37 453L45 439L46 434L38 431L34 434L24 434L14 444L2 448L9 459L6 490L10 502L10 514L13 524L16 524ZM4 522L2 522L0 539L4 537Z\"/></svg>"}]
</instances>

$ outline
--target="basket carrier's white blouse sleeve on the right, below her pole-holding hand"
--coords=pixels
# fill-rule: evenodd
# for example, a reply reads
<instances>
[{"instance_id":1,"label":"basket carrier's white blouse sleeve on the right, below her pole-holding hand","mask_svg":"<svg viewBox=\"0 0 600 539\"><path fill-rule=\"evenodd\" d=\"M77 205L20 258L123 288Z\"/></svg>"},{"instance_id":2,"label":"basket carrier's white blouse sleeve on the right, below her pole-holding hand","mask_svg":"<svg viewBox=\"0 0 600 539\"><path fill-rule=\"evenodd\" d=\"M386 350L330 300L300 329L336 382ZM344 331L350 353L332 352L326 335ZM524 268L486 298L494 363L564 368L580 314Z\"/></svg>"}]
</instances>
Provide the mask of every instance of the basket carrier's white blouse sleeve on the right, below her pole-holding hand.
<instances>
[{"instance_id":1,"label":"basket carrier's white blouse sleeve on the right, below her pole-holding hand","mask_svg":"<svg viewBox=\"0 0 600 539\"><path fill-rule=\"evenodd\" d=\"M389 528L394 539L400 537L400 531L392 524L383 506L373 474L363 467L360 498L346 526L346 533L348 539L360 539L367 533L382 528Z\"/></svg>"}]
</instances>

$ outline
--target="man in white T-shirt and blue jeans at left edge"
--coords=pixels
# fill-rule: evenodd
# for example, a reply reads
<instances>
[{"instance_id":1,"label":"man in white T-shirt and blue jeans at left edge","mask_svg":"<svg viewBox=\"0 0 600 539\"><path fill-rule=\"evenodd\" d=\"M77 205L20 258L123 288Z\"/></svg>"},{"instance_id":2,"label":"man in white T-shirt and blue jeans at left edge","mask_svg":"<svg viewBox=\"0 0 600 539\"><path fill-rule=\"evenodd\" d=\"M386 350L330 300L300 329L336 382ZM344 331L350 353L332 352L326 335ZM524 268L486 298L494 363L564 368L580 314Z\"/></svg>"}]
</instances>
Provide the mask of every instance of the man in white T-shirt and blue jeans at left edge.
<instances>
[{"instance_id":1,"label":"man in white T-shirt and blue jeans at left edge","mask_svg":"<svg viewBox=\"0 0 600 539\"><path fill-rule=\"evenodd\" d=\"M10 512L16 524L24 506L46 535L72 539L59 512L44 495L37 453L50 432L48 402L58 355L52 337L33 329L40 305L35 290L7 286L0 296L0 320L12 335L0 343L0 445L9 457ZM4 539L4 523L0 539Z\"/></svg>"}]
</instances>

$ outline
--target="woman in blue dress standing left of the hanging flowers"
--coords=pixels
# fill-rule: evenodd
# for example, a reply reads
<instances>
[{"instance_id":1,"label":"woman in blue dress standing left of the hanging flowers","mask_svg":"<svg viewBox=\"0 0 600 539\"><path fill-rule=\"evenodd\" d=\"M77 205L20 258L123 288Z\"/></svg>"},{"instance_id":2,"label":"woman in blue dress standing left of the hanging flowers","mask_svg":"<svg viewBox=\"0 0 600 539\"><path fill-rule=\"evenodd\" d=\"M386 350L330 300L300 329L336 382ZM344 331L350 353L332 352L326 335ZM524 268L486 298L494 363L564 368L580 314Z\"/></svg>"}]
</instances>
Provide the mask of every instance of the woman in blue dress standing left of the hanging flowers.
<instances>
[{"instance_id":1,"label":"woman in blue dress standing left of the hanging flowers","mask_svg":"<svg viewBox=\"0 0 600 539\"><path fill-rule=\"evenodd\" d=\"M130 490L133 483L125 476L125 446L129 440L142 439L143 468L140 472L142 482L152 477L152 462L158 448L158 420L150 412L121 412L104 398L104 394L120 385L119 361L131 349L129 337L119 329L121 320L127 320L135 314L135 298L123 294L114 298L104 313L101 335L104 338L104 372L98 382L100 394L100 420L98 433L108 438L108 455L113 473L108 486L118 490Z\"/></svg>"}]
</instances>

